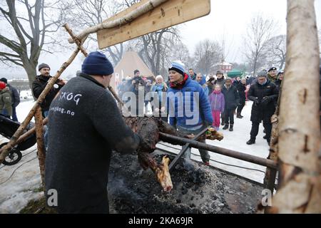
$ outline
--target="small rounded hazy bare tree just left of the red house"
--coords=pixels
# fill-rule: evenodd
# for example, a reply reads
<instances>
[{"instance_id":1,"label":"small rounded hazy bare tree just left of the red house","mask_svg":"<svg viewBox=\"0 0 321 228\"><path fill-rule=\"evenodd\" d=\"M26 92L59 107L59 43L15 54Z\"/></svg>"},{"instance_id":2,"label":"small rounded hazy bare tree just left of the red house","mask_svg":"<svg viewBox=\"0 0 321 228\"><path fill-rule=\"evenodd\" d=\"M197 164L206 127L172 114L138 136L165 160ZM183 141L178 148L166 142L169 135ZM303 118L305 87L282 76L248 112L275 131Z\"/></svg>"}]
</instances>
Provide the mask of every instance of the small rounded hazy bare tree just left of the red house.
<instances>
[{"instance_id":1,"label":"small rounded hazy bare tree just left of the red house","mask_svg":"<svg viewBox=\"0 0 321 228\"><path fill-rule=\"evenodd\" d=\"M220 62L222 52L223 50L217 42L210 41L209 39L200 41L200 43L196 45L194 53L196 71L203 74L210 73L215 63Z\"/></svg>"}]
</instances>

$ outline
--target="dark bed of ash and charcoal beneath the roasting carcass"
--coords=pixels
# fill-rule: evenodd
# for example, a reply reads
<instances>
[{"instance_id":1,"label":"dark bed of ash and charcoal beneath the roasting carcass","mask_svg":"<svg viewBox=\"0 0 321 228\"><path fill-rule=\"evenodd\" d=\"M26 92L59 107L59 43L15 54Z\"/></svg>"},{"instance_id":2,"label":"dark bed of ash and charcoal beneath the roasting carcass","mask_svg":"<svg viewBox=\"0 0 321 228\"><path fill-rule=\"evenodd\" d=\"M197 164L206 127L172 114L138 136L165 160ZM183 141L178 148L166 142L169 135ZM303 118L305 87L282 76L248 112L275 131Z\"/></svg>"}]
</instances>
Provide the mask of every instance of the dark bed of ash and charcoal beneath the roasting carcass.
<instances>
[{"instance_id":1,"label":"dark bed of ash and charcoal beneath the roasting carcass","mask_svg":"<svg viewBox=\"0 0 321 228\"><path fill-rule=\"evenodd\" d=\"M159 162L163 155L153 152ZM175 157L169 155L172 161ZM255 213L263 187L192 160L170 171L173 190L163 192L155 174L143 170L137 155L113 152L109 171L110 212L117 214Z\"/></svg>"}]
</instances>

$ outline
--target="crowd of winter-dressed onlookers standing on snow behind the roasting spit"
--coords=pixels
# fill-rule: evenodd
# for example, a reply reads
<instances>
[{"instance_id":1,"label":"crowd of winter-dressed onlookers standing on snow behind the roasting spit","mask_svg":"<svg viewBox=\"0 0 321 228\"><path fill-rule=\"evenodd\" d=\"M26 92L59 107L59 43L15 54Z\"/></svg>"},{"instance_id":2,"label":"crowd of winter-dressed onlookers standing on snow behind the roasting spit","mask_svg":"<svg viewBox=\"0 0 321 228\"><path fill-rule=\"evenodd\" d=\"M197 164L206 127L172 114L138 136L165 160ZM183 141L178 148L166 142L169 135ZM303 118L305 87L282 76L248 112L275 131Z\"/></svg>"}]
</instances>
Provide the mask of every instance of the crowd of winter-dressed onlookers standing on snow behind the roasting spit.
<instances>
[{"instance_id":1,"label":"crowd of winter-dressed onlookers standing on snow behind the roasting spit","mask_svg":"<svg viewBox=\"0 0 321 228\"><path fill-rule=\"evenodd\" d=\"M171 71L169 71L167 82L164 81L163 76L156 76L156 78L140 76L140 72L136 70L133 78L128 76L122 83L120 83L118 86L118 94L123 98L124 103L130 100L128 96L125 95L126 92L133 92L136 95L136 112L133 112L133 114L138 115L147 113L147 104L151 103L151 109L154 115L158 113L164 121L168 121L168 123L173 124L173 116L168 115L170 113L168 105L177 103L177 100L173 101L173 99L175 100L175 96L173 98L170 97L170 95L168 95L169 92L173 91L173 88L179 88L179 92L182 93L183 98L185 98L185 90L188 90L189 92L198 91L199 105L202 103L201 99L203 98L207 98L208 101L208 106L206 105L206 108L204 106L203 109L200 108L200 111L198 112L200 118L203 118L203 122L205 123L205 120L209 120L209 118L205 118L208 113L204 113L204 110L207 110L208 107L210 107L209 110L213 120L208 124L212 125L216 130L220 130L220 125L222 125L223 130L233 131L235 122L234 116L236 115L236 118L243 118L242 110L245 106L245 102L247 100L252 100L253 107L250 117L252 129L250 131L250 140L247 141L247 144L251 145L255 143L255 138L256 135L258 135L258 128L261 122L263 122L264 132L266 133L265 139L267 142L270 142L270 133L272 128L270 118L275 112L278 90L280 89L284 71L281 70L277 72L277 68L272 67L268 71L260 71L255 77L237 76L235 78L228 78L224 76L223 71L217 71L215 76L210 75L208 80L206 80L206 77L201 73L195 73L193 68L190 68L187 73L187 71L185 71L185 66L180 61L173 62L172 68L175 68L175 72L180 74L180 79L182 80L180 83L182 83L182 85L177 86L173 84L173 79L170 77ZM196 83L190 84L188 83L188 79L195 81ZM202 89L202 93L200 93L200 88ZM139 90L144 91L141 98L138 96ZM157 93L158 95L146 95L150 92ZM158 103L152 103L153 99L156 97ZM168 105L165 105L163 102L166 97ZM143 102L140 99L144 99ZM193 98L190 99L193 103ZM143 105L143 103L145 105ZM131 109L131 107L129 107L129 109ZM140 110L140 112L138 112L138 110ZM186 110L183 112L185 111ZM175 118L176 127L180 129L181 117L178 117L178 113L176 112L172 114ZM195 111L194 113L197 112ZM192 125L190 128L195 128L195 126Z\"/></svg>"}]
</instances>

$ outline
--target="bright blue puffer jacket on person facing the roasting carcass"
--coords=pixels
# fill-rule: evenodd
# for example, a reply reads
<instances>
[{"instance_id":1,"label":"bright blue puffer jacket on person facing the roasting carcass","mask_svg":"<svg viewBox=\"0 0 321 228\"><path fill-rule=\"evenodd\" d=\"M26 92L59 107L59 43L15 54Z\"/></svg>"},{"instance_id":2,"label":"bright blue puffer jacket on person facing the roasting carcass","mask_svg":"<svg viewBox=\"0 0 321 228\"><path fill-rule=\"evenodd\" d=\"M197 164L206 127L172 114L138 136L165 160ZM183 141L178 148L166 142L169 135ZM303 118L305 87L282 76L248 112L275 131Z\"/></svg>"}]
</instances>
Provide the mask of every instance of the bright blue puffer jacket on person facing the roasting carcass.
<instances>
[{"instance_id":1,"label":"bright blue puffer jacket on person facing the roasting carcass","mask_svg":"<svg viewBox=\"0 0 321 228\"><path fill-rule=\"evenodd\" d=\"M188 129L213 123L208 95L189 77L182 89L168 88L167 108L169 123L173 126Z\"/></svg>"}]
</instances>

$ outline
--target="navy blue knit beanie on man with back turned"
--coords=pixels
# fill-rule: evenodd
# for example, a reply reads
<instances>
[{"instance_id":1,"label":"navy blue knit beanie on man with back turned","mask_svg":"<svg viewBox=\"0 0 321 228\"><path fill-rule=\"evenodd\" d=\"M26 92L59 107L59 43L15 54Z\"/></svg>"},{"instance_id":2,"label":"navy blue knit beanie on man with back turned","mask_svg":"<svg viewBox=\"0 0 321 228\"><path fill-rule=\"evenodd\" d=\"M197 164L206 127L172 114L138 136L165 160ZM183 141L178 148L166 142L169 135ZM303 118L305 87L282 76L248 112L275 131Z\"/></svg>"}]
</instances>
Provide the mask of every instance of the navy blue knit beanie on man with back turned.
<instances>
[{"instance_id":1,"label":"navy blue knit beanie on man with back turned","mask_svg":"<svg viewBox=\"0 0 321 228\"><path fill-rule=\"evenodd\" d=\"M113 65L103 53L93 51L83 61L81 72L91 76L108 76L113 73Z\"/></svg>"}]
</instances>

